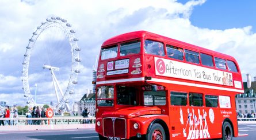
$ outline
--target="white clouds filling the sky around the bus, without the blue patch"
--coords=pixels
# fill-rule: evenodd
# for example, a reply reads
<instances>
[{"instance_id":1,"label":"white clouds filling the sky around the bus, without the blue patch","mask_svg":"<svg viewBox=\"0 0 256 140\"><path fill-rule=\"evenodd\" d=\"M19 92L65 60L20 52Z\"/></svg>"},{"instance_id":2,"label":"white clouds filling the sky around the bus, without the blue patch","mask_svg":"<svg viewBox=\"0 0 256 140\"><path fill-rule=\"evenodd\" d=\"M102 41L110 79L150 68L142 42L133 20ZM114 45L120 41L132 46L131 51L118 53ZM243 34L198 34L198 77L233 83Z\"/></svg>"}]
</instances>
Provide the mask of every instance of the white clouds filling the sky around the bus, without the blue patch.
<instances>
[{"instance_id":1,"label":"white clouds filling the sky around the bus, without the blue patch","mask_svg":"<svg viewBox=\"0 0 256 140\"><path fill-rule=\"evenodd\" d=\"M205 0L189 1L185 5L175 0L0 1L0 89L8 90L1 94L1 99L9 101L12 95L24 99L20 77L25 47L36 27L52 15L67 19L72 24L79 38L78 46L82 49L79 84L72 101L78 101L86 89L91 89L91 71L102 42L114 35L136 30L151 31L230 54L239 62L243 77L246 73L256 75L256 66L253 65L256 34L252 33L252 26L226 30L196 27L189 17L194 6L204 3ZM32 77L35 81L40 78L36 74ZM49 85L44 85L44 88L49 89ZM39 95L39 102L47 101L48 94ZM49 95L55 98L55 94ZM16 102L19 102L18 98Z\"/></svg>"}]
</instances>

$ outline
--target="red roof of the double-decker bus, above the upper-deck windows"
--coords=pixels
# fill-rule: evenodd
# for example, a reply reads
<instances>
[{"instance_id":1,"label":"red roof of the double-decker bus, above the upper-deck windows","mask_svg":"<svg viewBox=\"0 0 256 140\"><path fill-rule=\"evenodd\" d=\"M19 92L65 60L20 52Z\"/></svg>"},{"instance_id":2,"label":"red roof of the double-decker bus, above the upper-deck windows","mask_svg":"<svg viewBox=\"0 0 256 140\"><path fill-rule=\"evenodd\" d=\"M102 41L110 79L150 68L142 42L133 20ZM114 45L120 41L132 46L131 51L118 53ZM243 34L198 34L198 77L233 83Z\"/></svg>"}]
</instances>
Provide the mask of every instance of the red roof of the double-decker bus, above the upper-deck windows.
<instances>
[{"instance_id":1,"label":"red roof of the double-decker bus, above the upper-deck windows","mask_svg":"<svg viewBox=\"0 0 256 140\"><path fill-rule=\"evenodd\" d=\"M106 40L102 44L102 47L109 46L109 45L114 45L115 43L129 41L129 40L136 39L136 38L143 38L143 37L151 38L151 39L154 39L156 41L163 41L163 42L166 42L166 43L174 43L175 45L180 46L180 47L185 46L186 49L192 49L192 50L195 50L195 51L200 51L202 53L215 55L215 57L221 57L221 58L226 58L226 59L230 59L232 61L235 61L235 58L231 57L230 55L222 54L222 53L219 53L217 51L205 49L204 47L199 47L199 46L196 46L196 45L192 45L190 43L185 43L185 42L182 42L182 41L178 41L176 39L164 37L162 35L151 33L151 32L148 32L148 31L133 31L133 32L130 32L130 33L117 35L115 37L112 37L112 38L109 38L108 40Z\"/></svg>"}]
</instances>

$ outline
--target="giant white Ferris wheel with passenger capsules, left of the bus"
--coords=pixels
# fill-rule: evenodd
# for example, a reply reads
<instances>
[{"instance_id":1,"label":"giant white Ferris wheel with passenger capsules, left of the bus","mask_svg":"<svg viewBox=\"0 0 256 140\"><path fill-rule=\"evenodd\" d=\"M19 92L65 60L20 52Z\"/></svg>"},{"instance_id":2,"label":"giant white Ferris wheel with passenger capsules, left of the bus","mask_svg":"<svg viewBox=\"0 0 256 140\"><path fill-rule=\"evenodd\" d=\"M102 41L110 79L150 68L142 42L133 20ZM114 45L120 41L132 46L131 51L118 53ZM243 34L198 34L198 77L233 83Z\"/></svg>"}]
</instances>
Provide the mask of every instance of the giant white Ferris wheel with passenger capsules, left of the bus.
<instances>
[{"instance_id":1,"label":"giant white Ferris wheel with passenger capsules, left of the bus","mask_svg":"<svg viewBox=\"0 0 256 140\"><path fill-rule=\"evenodd\" d=\"M60 17L47 18L33 32L22 63L22 83L28 106L36 106L35 93L40 102L52 101L54 109L70 112L68 103L75 94L80 73L81 49L77 42L71 24Z\"/></svg>"}]
</instances>

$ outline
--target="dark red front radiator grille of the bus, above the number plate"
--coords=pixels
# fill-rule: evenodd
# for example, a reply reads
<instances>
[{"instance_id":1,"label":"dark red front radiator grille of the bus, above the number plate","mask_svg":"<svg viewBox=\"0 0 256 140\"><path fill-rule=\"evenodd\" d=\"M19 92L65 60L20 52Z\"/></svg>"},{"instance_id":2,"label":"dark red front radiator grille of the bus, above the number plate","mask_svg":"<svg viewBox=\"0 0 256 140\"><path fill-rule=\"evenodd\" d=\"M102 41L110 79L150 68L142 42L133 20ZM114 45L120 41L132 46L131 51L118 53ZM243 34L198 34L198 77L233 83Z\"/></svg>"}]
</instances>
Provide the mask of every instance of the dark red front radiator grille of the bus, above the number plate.
<instances>
[{"instance_id":1,"label":"dark red front radiator grille of the bus, above the number plate","mask_svg":"<svg viewBox=\"0 0 256 140\"><path fill-rule=\"evenodd\" d=\"M103 131L105 137L126 138L126 121L124 118L104 118Z\"/></svg>"}]
</instances>

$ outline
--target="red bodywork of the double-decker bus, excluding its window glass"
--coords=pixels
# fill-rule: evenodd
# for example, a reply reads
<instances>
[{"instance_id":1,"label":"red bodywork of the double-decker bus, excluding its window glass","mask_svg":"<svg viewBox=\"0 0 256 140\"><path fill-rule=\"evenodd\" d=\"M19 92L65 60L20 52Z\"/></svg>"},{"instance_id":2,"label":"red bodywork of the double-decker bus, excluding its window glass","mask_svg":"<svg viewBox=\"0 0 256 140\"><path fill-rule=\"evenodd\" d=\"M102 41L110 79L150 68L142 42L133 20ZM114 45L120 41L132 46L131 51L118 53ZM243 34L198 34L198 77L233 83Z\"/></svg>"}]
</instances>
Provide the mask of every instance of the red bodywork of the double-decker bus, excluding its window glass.
<instances>
[{"instance_id":1,"label":"red bodywork of the double-decker bus, excluding its window glass","mask_svg":"<svg viewBox=\"0 0 256 140\"><path fill-rule=\"evenodd\" d=\"M161 56L146 53L144 50L146 40L161 42L165 54ZM140 41L140 52L121 56L120 44L131 41ZM226 127L223 126L226 124L225 122L231 125L232 136L238 137L235 95L243 93L243 84L238 63L233 57L147 31L135 31L110 38L102 44L102 49L115 45L117 46L116 57L101 59L100 55L98 62L95 130L100 138L129 139L141 136L148 138L152 126L157 127L154 125L155 123L161 125L165 131L163 134L153 130L160 138L161 136L165 139L222 138L223 127ZM216 57L232 61L235 63L237 72L217 69L215 59L212 60L214 66L205 66L202 65L201 57L199 57L198 64L187 62L185 58L183 60L169 58L166 45L182 47L183 53L185 49L188 49L198 54L211 55L212 59ZM126 66L120 63L128 64ZM138 63L139 69L137 69ZM108 65L110 66L108 67ZM175 68L178 66L188 68L186 71L181 67ZM193 69L189 70L190 67ZM162 73L162 70L165 73ZM135 73L133 73L134 71ZM222 73L232 76L232 79L229 79L230 85L221 84L220 80L224 78L220 75ZM171 74L177 76L173 77ZM188 78L184 78L186 76ZM157 91L165 93L165 105L145 105L146 97L143 92L148 91L151 94L152 85L156 85ZM98 95L99 88L102 86L113 86L114 88L113 95L109 100L112 102L111 106L100 106L99 104L104 100ZM134 105L119 105L117 88L123 86L135 87L136 103ZM145 89L148 86L150 86L149 90ZM186 93L184 106L171 103L170 93L177 91ZM190 95L193 93L202 95L202 105L190 105ZM216 107L206 106L206 95L217 96ZM150 137L155 139L154 134Z\"/></svg>"}]
</instances>

